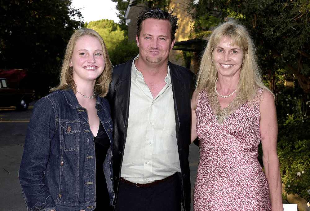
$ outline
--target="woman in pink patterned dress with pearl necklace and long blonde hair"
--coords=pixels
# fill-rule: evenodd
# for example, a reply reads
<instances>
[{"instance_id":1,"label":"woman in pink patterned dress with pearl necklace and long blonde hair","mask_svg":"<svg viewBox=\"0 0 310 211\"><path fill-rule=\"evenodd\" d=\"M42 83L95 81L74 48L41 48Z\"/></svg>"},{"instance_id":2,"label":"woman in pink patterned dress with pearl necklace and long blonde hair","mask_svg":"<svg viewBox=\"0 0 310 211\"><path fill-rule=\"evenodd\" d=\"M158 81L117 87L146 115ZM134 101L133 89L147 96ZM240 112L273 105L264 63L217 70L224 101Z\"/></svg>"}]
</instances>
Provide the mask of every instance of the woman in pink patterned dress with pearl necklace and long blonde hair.
<instances>
[{"instance_id":1,"label":"woman in pink patterned dress with pearl necklace and long blonde hair","mask_svg":"<svg viewBox=\"0 0 310 211\"><path fill-rule=\"evenodd\" d=\"M192 99L192 140L197 136L194 210L283 210L274 97L236 21L213 31L202 56Z\"/></svg>"}]
</instances>

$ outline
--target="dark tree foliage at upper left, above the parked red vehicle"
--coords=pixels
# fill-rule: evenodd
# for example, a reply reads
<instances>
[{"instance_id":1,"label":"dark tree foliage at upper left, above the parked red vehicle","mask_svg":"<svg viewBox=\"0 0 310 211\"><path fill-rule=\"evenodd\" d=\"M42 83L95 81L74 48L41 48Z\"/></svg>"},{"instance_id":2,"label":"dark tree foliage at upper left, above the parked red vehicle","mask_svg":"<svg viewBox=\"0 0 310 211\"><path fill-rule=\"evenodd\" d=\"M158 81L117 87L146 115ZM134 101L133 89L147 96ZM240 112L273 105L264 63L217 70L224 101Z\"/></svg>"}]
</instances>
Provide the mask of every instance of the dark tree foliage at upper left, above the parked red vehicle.
<instances>
[{"instance_id":1,"label":"dark tree foliage at upper left, above the parked red vehicle","mask_svg":"<svg viewBox=\"0 0 310 211\"><path fill-rule=\"evenodd\" d=\"M64 49L82 22L69 0L2 0L0 5L0 69L28 69L28 88L37 95L59 83ZM25 80L24 80L25 81ZM39 92L39 93L38 93Z\"/></svg>"}]
</instances>

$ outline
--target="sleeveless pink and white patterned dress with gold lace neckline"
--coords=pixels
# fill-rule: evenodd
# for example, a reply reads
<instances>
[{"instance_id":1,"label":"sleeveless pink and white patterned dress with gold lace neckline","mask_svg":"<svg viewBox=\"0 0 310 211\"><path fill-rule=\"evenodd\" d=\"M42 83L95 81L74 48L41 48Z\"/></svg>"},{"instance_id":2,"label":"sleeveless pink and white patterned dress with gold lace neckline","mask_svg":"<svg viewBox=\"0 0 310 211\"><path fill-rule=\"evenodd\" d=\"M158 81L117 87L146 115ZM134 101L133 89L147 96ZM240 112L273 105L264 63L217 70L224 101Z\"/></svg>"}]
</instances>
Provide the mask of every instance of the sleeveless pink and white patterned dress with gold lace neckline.
<instances>
[{"instance_id":1,"label":"sleeveless pink and white patterned dress with gold lace neckline","mask_svg":"<svg viewBox=\"0 0 310 211\"><path fill-rule=\"evenodd\" d=\"M196 109L200 160L194 211L271 211L268 182L257 160L259 99L237 97L221 109L214 88L203 89Z\"/></svg>"}]
</instances>

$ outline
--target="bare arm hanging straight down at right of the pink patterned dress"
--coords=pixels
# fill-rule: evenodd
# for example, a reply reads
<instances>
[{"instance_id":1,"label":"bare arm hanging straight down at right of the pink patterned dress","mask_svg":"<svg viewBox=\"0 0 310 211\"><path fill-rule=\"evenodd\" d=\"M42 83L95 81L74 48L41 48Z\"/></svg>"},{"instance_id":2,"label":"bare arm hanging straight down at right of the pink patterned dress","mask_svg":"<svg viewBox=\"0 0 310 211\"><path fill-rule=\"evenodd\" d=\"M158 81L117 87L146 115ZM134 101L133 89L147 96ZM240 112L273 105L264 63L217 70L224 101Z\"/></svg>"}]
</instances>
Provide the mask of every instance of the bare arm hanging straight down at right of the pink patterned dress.
<instances>
[{"instance_id":1,"label":"bare arm hanging straight down at right of the pink patterned dress","mask_svg":"<svg viewBox=\"0 0 310 211\"><path fill-rule=\"evenodd\" d=\"M277 154L277 113L273 95L264 90L259 104L263 165L269 185L272 211L283 211L282 182Z\"/></svg>"}]
</instances>

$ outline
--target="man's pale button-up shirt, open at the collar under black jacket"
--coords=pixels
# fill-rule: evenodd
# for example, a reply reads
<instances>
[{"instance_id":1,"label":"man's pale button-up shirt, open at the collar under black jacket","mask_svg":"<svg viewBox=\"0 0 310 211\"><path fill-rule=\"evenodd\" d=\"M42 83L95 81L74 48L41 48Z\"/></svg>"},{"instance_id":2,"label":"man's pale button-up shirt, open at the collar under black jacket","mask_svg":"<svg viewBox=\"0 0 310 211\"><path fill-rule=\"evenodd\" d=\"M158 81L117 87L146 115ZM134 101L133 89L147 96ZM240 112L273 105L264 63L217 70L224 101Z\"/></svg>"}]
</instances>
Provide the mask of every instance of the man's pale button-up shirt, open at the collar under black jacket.
<instances>
[{"instance_id":1,"label":"man's pale button-up shirt, open at the collar under black jacket","mask_svg":"<svg viewBox=\"0 0 310 211\"><path fill-rule=\"evenodd\" d=\"M135 58L135 60L139 55ZM121 177L150 183L181 172L170 69L166 85L153 99L142 73L131 66L127 137Z\"/></svg>"}]
</instances>

